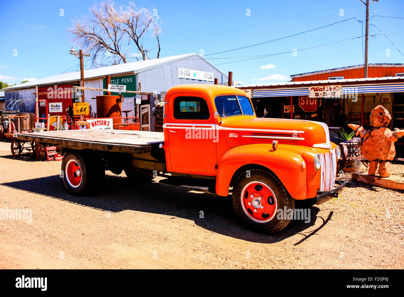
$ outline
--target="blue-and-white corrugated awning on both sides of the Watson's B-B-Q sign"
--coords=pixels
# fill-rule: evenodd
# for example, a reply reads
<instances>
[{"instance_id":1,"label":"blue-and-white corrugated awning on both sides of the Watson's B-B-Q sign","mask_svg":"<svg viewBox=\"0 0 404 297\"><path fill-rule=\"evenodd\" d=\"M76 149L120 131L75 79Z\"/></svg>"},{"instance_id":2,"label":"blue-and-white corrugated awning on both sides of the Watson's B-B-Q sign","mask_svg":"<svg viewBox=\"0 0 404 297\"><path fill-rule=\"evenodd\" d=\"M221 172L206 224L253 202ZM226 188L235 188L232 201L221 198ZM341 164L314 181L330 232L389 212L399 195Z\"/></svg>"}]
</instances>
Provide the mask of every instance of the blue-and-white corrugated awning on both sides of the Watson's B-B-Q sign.
<instances>
[{"instance_id":1,"label":"blue-and-white corrugated awning on both sides of the Watson's B-B-Q sign","mask_svg":"<svg viewBox=\"0 0 404 297\"><path fill-rule=\"evenodd\" d=\"M358 84L342 86L342 94L404 92L404 84ZM252 97L307 96L309 87L252 89Z\"/></svg>"}]
</instances>

